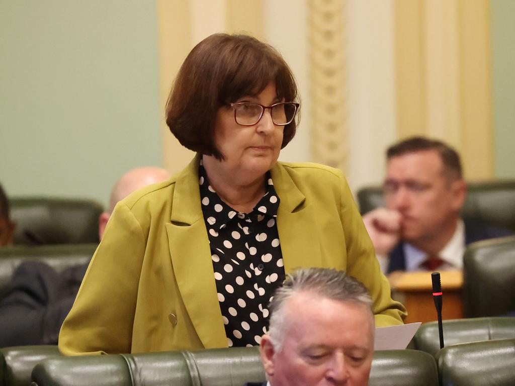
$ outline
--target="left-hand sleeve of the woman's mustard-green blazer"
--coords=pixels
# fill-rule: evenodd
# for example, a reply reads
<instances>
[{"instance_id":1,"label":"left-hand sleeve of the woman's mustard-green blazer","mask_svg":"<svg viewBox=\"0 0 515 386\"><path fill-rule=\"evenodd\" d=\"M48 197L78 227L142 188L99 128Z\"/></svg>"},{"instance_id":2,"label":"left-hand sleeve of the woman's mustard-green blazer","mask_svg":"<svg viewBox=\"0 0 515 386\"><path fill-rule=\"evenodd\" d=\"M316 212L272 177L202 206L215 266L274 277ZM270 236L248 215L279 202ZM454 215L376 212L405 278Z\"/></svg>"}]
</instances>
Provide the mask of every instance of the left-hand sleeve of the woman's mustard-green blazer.
<instances>
[{"instance_id":1,"label":"left-hand sleeve of the woman's mustard-green blazer","mask_svg":"<svg viewBox=\"0 0 515 386\"><path fill-rule=\"evenodd\" d=\"M114 209L59 334L64 355L130 353L146 240L129 207Z\"/></svg>"}]
</instances>

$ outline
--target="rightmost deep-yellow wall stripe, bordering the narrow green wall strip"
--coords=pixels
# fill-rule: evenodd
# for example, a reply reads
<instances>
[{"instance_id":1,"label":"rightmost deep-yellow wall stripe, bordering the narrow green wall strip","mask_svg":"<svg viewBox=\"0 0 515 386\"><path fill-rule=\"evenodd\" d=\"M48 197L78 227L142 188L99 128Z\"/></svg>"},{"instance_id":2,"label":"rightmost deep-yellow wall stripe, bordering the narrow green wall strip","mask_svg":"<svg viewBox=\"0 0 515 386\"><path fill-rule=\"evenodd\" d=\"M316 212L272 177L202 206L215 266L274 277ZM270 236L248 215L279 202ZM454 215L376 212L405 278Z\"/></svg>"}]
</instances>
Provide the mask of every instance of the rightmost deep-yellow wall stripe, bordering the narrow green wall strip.
<instances>
[{"instance_id":1,"label":"rightmost deep-yellow wall stripe, bordering the narrow green wall strip","mask_svg":"<svg viewBox=\"0 0 515 386\"><path fill-rule=\"evenodd\" d=\"M461 156L468 180L493 176L489 0L458 0Z\"/></svg>"}]
</instances>

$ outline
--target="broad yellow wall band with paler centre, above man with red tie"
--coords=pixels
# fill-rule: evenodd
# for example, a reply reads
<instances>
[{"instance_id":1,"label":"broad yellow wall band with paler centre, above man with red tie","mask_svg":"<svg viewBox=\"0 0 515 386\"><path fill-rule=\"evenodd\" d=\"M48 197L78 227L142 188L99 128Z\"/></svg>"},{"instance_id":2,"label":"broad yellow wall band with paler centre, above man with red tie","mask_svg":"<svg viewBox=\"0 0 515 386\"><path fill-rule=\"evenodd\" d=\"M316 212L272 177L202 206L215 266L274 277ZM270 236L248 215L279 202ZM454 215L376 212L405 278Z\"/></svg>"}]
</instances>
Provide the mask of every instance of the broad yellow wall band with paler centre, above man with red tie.
<instances>
[{"instance_id":1,"label":"broad yellow wall band with paler centre, above man with red tie","mask_svg":"<svg viewBox=\"0 0 515 386\"><path fill-rule=\"evenodd\" d=\"M468 180L493 176L489 0L397 0L398 136L456 147Z\"/></svg>"}]
</instances>

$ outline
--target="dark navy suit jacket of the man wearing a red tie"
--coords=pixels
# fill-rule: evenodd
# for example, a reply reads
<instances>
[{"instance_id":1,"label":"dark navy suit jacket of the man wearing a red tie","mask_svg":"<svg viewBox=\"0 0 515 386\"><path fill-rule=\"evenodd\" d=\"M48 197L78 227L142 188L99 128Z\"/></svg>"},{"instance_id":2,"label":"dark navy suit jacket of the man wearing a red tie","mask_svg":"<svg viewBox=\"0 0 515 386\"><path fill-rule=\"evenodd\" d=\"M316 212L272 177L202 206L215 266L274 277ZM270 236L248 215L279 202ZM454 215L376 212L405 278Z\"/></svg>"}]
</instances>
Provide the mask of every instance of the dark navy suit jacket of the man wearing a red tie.
<instances>
[{"instance_id":1,"label":"dark navy suit jacket of the man wearing a red tie","mask_svg":"<svg viewBox=\"0 0 515 386\"><path fill-rule=\"evenodd\" d=\"M496 237L511 236L513 233L500 228L487 226L474 220L464 219L465 245L475 241L488 240ZM400 242L390 252L388 259L388 273L406 270L406 257L404 256L404 242Z\"/></svg>"}]
</instances>

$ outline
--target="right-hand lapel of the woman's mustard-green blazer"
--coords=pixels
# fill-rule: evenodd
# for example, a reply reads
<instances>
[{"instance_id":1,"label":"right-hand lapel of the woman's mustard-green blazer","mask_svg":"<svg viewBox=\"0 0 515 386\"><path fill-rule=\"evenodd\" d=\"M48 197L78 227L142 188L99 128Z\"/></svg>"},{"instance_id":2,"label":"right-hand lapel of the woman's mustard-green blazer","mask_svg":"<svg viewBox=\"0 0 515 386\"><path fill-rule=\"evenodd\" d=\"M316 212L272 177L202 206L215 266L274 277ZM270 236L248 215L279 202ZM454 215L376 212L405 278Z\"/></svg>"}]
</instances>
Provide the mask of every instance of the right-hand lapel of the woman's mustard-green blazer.
<instances>
[{"instance_id":1,"label":"right-hand lapel of the woman's mustard-green blazer","mask_svg":"<svg viewBox=\"0 0 515 386\"><path fill-rule=\"evenodd\" d=\"M281 163L271 169L273 187L281 202L277 229L281 240L284 269L321 267L320 242L315 229L315 213L310 203Z\"/></svg>"}]
</instances>

